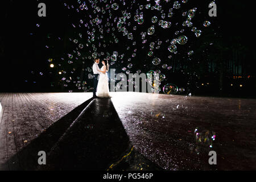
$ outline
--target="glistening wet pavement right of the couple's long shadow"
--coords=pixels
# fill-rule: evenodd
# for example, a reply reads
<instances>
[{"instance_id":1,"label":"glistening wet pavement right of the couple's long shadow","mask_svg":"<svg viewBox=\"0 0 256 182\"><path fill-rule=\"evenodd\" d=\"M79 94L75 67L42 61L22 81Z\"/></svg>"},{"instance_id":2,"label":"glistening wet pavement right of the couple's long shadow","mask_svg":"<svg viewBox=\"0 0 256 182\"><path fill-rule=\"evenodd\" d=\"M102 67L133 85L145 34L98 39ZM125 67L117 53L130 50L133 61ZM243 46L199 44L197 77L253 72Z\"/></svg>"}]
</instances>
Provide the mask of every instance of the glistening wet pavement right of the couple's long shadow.
<instances>
[{"instance_id":1,"label":"glistening wet pavement right of the couple's long shadow","mask_svg":"<svg viewBox=\"0 0 256 182\"><path fill-rule=\"evenodd\" d=\"M166 170L256 169L256 100L119 92L112 101L134 147Z\"/></svg>"}]
</instances>

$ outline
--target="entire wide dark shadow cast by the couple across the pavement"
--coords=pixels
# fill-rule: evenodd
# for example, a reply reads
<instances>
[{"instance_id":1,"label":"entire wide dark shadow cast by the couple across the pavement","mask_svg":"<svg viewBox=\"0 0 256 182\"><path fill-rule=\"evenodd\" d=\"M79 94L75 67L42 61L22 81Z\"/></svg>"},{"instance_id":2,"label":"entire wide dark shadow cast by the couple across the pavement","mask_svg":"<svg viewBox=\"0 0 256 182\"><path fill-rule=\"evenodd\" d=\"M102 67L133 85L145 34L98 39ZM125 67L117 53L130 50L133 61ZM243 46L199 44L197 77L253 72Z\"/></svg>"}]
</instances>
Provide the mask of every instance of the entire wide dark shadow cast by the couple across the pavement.
<instances>
[{"instance_id":1,"label":"entire wide dark shadow cast by the couple across the pavement","mask_svg":"<svg viewBox=\"0 0 256 182\"><path fill-rule=\"evenodd\" d=\"M47 154L45 165L38 164L39 151ZM11 170L162 170L135 150L110 98L84 102L8 164Z\"/></svg>"}]
</instances>

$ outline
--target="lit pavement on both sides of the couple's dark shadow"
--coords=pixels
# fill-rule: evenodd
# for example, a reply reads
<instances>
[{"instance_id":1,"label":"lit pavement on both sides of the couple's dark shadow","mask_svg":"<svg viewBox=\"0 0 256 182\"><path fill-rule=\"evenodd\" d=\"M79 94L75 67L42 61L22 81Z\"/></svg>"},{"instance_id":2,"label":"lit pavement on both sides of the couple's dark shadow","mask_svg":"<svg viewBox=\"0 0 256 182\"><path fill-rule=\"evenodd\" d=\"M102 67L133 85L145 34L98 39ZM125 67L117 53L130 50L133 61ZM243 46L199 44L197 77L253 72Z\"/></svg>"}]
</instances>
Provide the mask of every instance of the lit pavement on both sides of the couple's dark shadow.
<instances>
[{"instance_id":1,"label":"lit pavement on both sides of the couple's dark shadow","mask_svg":"<svg viewBox=\"0 0 256 182\"><path fill-rule=\"evenodd\" d=\"M217 152L216 169L255 169L256 100L134 92L111 95L135 149L162 168L211 168L208 154L198 155L195 150L200 146L193 133L197 127L217 135L212 149L201 147L202 152ZM0 93L0 169L3 164L5 169L16 168L19 156L15 154L91 97L92 93Z\"/></svg>"}]
</instances>

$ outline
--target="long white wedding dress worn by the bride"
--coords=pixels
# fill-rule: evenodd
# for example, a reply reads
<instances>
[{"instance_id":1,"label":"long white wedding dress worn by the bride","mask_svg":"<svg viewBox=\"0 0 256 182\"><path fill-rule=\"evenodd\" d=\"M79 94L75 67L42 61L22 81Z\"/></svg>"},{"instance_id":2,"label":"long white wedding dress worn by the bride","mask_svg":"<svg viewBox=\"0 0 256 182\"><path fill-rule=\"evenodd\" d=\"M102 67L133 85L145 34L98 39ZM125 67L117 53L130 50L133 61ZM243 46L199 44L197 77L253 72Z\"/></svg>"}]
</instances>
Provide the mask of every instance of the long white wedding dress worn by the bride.
<instances>
[{"instance_id":1,"label":"long white wedding dress worn by the bride","mask_svg":"<svg viewBox=\"0 0 256 182\"><path fill-rule=\"evenodd\" d=\"M101 71L104 70L104 67L106 67L106 65L101 67ZM96 96L110 98L108 73L100 73L100 78L98 79Z\"/></svg>"}]
</instances>

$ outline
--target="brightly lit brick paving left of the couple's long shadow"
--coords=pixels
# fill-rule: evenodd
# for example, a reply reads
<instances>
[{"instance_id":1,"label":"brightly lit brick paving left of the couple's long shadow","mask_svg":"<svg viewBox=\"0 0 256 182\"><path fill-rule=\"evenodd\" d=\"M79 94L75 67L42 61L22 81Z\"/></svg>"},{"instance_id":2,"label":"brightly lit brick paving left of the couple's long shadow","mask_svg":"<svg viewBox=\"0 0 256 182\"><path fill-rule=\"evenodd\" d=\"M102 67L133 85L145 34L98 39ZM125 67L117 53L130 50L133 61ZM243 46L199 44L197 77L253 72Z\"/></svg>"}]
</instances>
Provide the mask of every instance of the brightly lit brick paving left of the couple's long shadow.
<instances>
[{"instance_id":1,"label":"brightly lit brick paving left of the couple's long shadow","mask_svg":"<svg viewBox=\"0 0 256 182\"><path fill-rule=\"evenodd\" d=\"M92 93L0 93L0 166ZM18 164L17 164L18 165Z\"/></svg>"}]
</instances>

